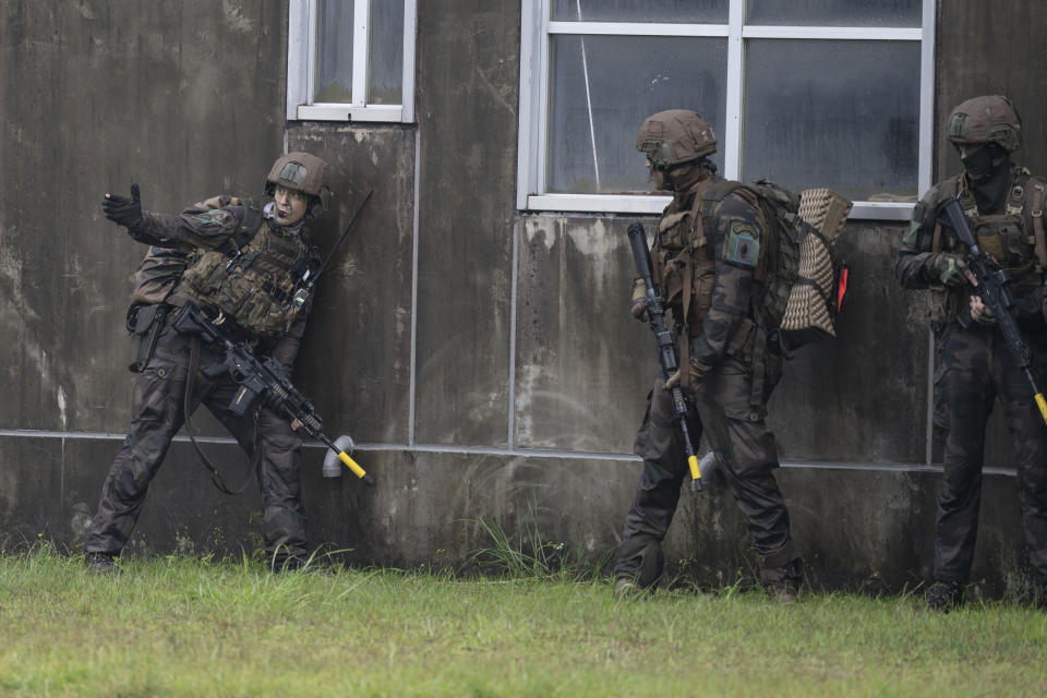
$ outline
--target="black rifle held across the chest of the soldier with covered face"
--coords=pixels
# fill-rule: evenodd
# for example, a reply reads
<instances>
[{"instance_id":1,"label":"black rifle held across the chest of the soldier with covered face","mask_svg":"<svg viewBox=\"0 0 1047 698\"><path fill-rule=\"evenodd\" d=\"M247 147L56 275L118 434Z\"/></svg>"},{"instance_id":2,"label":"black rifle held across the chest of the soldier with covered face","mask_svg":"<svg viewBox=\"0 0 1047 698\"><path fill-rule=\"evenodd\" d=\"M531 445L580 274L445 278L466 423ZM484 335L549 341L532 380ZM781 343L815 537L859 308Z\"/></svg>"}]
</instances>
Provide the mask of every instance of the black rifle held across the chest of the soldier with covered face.
<instances>
[{"instance_id":1,"label":"black rifle held across the chest of the soldier with covered face","mask_svg":"<svg viewBox=\"0 0 1047 698\"><path fill-rule=\"evenodd\" d=\"M1008 288L1008 284L1010 284L1011 280L1010 275L1006 269L1000 268L1000 265L998 265L987 252L978 246L978 242L971 231L971 225L967 222L966 216L963 215L963 207L960 205L960 200L956 196L950 196L939 204L937 217L942 220L943 225L952 228L960 242L967 246L970 252L967 255L967 267L971 269L971 273L974 274L974 278L977 281L975 284L975 290L982 299L982 302L985 303L986 308L988 308L992 312L994 317L996 317L1000 333L1003 335L1003 344L1007 345L1007 350L1010 351L1014 360L1018 361L1018 366L1025 372L1025 377L1028 378L1028 384L1033 387L1033 395L1035 396L1036 405L1039 407L1039 414L1044 418L1044 422L1047 422L1047 400L1044 399L1044 394L1036 387L1036 380L1033 377L1033 372L1030 369L1032 354L1028 350L1028 345L1022 339L1022 335L1018 329L1018 321L1014 318L1014 315L1011 314L1011 310L1014 308L1014 297L1011 296L1011 291Z\"/></svg>"}]
</instances>

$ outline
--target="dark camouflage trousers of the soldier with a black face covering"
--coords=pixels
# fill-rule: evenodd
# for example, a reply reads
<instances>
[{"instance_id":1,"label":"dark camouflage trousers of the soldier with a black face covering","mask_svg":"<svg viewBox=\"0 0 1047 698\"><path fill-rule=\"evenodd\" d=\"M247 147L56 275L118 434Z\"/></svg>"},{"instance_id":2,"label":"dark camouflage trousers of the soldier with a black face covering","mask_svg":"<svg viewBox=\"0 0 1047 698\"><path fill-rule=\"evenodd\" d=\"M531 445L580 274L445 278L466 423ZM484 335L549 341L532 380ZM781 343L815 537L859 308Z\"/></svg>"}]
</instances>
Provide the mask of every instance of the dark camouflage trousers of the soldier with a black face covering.
<instances>
[{"instance_id":1,"label":"dark camouflage trousers of the soldier with a black face covering","mask_svg":"<svg viewBox=\"0 0 1047 698\"><path fill-rule=\"evenodd\" d=\"M1030 341L1030 339L1034 339ZM1047 341L1026 337L1037 385L1047 376ZM998 397L1018 457L1021 506L1033 575L1047 583L1047 426L1028 378L992 327L942 333L935 372L935 424L948 430L938 491L935 578L964 583L971 571L982 498L985 428Z\"/></svg>"}]
</instances>

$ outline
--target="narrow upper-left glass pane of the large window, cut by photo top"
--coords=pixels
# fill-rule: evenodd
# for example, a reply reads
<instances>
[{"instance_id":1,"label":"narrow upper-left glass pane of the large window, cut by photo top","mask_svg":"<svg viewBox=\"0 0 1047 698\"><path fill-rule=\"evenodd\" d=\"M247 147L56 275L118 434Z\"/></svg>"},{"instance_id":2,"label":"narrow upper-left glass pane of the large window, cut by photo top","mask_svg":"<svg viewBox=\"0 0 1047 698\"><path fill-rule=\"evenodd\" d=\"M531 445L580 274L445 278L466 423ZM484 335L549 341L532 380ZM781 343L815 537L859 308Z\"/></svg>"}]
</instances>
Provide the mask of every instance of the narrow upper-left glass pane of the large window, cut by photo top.
<instances>
[{"instance_id":1,"label":"narrow upper-left glass pane of the large window, cut by photo top","mask_svg":"<svg viewBox=\"0 0 1047 698\"><path fill-rule=\"evenodd\" d=\"M553 0L553 21L726 24L729 0Z\"/></svg>"}]
</instances>

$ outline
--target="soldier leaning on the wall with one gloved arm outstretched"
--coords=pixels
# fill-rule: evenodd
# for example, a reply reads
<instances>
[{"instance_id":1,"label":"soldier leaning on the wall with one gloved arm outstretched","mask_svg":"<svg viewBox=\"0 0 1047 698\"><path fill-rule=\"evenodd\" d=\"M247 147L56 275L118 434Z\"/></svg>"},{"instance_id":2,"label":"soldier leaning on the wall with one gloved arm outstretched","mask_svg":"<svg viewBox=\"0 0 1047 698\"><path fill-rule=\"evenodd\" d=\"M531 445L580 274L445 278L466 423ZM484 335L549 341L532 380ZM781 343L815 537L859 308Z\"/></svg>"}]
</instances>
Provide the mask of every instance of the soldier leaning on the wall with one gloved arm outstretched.
<instances>
[{"instance_id":1,"label":"soldier leaning on the wall with one gloved arm outstretched","mask_svg":"<svg viewBox=\"0 0 1047 698\"><path fill-rule=\"evenodd\" d=\"M261 210L253 202L222 198L177 216L142 210L137 185L130 198L106 194L106 217L136 241L154 245L140 269L140 291L159 292L171 310L158 313L155 347L139 366L131 432L109 470L84 542L86 562L96 571L115 570L112 558L131 535L149 481L185 422L185 399L190 413L204 404L252 457L269 561L280 569L294 568L308 553L301 438L262 400L242 418L232 413L239 386L228 372L190 376L190 366L221 362L225 353L173 326L178 310L190 302L212 316L220 313L234 338L254 344L260 357L278 359L290 375L312 304L305 279L320 258L309 244L308 225L327 207L327 165L306 153L285 155L270 169L265 190L273 201ZM171 269L173 276L166 276ZM194 344L198 358L191 361Z\"/></svg>"}]
</instances>

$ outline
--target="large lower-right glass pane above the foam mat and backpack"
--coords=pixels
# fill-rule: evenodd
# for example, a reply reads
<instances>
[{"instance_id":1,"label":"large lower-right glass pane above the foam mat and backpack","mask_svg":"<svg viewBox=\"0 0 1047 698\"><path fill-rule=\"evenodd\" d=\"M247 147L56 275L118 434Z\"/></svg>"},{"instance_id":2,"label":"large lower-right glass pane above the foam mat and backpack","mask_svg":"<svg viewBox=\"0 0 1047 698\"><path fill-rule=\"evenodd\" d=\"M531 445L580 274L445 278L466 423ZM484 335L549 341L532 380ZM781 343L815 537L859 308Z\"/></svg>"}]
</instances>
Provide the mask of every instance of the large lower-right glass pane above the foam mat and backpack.
<instances>
[{"instance_id":1,"label":"large lower-right glass pane above the foam mat and backpack","mask_svg":"<svg viewBox=\"0 0 1047 698\"><path fill-rule=\"evenodd\" d=\"M745 181L916 201L919 43L753 39L745 64Z\"/></svg>"}]
</instances>

